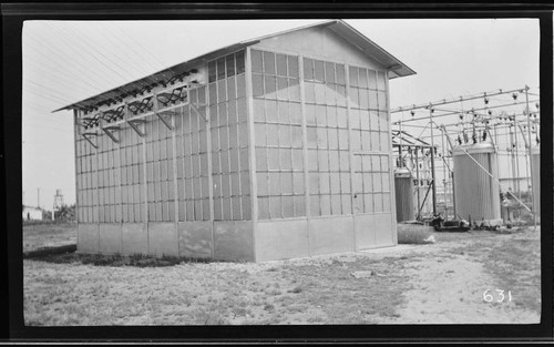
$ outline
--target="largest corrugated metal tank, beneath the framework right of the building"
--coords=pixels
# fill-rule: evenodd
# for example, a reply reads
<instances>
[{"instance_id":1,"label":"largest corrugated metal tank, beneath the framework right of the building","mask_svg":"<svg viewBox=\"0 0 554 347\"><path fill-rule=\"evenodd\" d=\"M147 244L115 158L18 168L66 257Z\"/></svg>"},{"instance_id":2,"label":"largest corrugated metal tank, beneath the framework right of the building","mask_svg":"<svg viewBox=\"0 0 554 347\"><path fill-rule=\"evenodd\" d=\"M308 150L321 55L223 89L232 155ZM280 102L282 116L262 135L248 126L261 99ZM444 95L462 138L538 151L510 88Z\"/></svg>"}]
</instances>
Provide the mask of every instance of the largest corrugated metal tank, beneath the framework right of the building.
<instances>
[{"instance_id":1,"label":"largest corrugated metal tank, beneath the framework right of the building","mask_svg":"<svg viewBox=\"0 0 554 347\"><path fill-rule=\"evenodd\" d=\"M458 217L478 225L483 222L502 224L499 183L486 173L497 178L497 157L493 144L483 142L456 146L452 156Z\"/></svg>"}]
</instances>

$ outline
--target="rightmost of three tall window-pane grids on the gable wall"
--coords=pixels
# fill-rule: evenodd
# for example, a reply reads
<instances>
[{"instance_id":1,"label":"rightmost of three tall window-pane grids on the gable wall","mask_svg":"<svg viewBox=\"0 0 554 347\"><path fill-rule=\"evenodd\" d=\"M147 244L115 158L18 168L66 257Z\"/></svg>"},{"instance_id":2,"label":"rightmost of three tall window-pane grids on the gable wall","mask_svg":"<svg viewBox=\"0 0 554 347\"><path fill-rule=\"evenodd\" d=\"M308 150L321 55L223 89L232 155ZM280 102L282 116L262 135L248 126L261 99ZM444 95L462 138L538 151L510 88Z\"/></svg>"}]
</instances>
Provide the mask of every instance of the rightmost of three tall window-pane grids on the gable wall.
<instances>
[{"instance_id":1,"label":"rightmost of three tall window-pane grids on the gable wall","mask_svg":"<svg viewBox=\"0 0 554 347\"><path fill-rule=\"evenodd\" d=\"M356 212L390 212L390 133L384 72L349 68Z\"/></svg>"}]
</instances>

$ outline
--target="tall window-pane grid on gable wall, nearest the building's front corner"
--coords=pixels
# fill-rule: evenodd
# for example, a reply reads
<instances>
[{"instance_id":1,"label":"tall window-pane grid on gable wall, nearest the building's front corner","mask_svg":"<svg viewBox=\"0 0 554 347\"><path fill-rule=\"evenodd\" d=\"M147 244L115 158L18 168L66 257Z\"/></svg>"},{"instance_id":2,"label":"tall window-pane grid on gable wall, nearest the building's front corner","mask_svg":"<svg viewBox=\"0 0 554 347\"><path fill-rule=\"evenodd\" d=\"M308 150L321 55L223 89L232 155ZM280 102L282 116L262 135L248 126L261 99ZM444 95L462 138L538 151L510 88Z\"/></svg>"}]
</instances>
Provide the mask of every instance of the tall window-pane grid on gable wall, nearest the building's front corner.
<instances>
[{"instance_id":1,"label":"tall window-pane grid on gable wall, nearest the building's front corner","mask_svg":"<svg viewBox=\"0 0 554 347\"><path fill-rule=\"evenodd\" d=\"M258 216L306 216L298 57L252 50Z\"/></svg>"}]
</instances>

